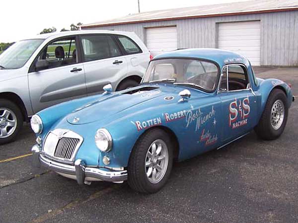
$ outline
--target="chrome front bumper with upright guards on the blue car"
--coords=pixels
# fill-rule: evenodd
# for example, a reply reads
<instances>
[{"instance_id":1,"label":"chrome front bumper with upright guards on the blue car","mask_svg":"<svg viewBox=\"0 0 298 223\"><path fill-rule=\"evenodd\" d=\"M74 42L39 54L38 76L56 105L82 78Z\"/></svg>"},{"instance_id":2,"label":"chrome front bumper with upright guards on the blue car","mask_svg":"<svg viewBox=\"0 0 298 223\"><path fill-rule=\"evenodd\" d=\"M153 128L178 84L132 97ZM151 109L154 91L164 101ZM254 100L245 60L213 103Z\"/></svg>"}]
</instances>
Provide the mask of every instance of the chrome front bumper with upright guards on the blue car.
<instances>
[{"instance_id":1,"label":"chrome front bumper with upright guards on the blue car","mask_svg":"<svg viewBox=\"0 0 298 223\"><path fill-rule=\"evenodd\" d=\"M127 170L120 171L104 171L96 167L87 167L80 159L74 162L74 165L62 164L48 159L41 154L41 148L38 145L34 145L32 151L32 165L34 167L40 167L40 165L47 167L55 172L64 173L76 176L78 184L85 182L85 177L96 178L103 181L119 182L127 180Z\"/></svg>"}]
</instances>

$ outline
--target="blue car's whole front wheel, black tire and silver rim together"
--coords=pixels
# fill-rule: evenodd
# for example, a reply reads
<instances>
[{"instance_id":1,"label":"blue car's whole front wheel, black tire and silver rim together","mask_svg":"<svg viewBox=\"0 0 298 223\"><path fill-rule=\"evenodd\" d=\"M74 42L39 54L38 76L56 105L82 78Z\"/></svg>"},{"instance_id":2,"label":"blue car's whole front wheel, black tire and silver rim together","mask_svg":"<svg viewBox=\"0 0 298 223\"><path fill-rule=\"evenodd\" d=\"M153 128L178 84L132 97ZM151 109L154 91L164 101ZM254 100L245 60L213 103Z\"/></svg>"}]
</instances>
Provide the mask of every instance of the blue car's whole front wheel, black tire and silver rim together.
<instances>
[{"instance_id":1,"label":"blue car's whole front wheel, black tire and silver rim together","mask_svg":"<svg viewBox=\"0 0 298 223\"><path fill-rule=\"evenodd\" d=\"M170 137L153 128L137 141L128 164L128 184L141 193L155 193L166 183L173 165Z\"/></svg>"}]
</instances>

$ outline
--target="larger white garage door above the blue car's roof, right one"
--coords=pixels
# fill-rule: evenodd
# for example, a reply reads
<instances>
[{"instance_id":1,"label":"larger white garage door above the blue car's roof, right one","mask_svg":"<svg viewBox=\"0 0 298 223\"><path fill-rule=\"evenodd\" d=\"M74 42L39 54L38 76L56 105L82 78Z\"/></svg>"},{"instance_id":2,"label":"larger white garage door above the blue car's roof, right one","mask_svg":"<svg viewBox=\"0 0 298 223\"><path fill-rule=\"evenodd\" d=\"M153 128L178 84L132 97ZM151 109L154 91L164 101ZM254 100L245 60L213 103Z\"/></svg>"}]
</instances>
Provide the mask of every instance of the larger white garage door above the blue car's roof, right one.
<instances>
[{"instance_id":1,"label":"larger white garage door above the blue car's roof, right one","mask_svg":"<svg viewBox=\"0 0 298 223\"><path fill-rule=\"evenodd\" d=\"M224 22L219 24L219 48L248 58L260 65L260 21Z\"/></svg>"}]
</instances>

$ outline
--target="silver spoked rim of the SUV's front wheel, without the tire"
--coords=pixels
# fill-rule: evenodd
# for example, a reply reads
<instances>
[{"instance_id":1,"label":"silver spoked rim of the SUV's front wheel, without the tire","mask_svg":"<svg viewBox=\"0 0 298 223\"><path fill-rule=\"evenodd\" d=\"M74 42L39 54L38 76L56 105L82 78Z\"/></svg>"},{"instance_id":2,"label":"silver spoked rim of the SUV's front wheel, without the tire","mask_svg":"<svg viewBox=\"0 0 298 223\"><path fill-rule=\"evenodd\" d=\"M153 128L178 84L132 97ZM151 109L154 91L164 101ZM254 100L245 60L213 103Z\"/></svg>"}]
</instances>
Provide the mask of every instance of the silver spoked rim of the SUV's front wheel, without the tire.
<instances>
[{"instance_id":1,"label":"silver spoked rim of the SUV's front wheel, without the tire","mask_svg":"<svg viewBox=\"0 0 298 223\"><path fill-rule=\"evenodd\" d=\"M7 138L16 129L17 119L13 111L0 108L0 138Z\"/></svg>"}]
</instances>

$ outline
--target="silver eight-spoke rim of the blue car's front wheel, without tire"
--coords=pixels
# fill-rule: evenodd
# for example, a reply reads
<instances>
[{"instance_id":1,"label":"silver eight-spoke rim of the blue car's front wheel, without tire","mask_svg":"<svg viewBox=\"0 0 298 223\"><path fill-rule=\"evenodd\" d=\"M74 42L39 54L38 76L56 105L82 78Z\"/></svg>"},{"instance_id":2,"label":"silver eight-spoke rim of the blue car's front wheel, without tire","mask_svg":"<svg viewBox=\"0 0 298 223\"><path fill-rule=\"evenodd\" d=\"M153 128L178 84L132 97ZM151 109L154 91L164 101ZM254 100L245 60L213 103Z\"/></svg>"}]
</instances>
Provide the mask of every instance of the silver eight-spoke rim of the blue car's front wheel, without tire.
<instances>
[{"instance_id":1,"label":"silver eight-spoke rim of the blue car's front wheel, without tire","mask_svg":"<svg viewBox=\"0 0 298 223\"><path fill-rule=\"evenodd\" d=\"M157 139L149 146L145 159L147 178L151 183L158 183L168 167L169 154L165 142Z\"/></svg>"}]
</instances>

